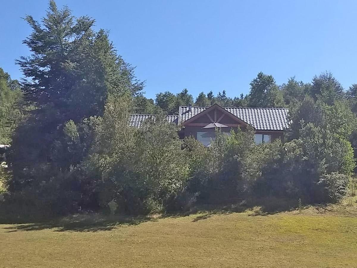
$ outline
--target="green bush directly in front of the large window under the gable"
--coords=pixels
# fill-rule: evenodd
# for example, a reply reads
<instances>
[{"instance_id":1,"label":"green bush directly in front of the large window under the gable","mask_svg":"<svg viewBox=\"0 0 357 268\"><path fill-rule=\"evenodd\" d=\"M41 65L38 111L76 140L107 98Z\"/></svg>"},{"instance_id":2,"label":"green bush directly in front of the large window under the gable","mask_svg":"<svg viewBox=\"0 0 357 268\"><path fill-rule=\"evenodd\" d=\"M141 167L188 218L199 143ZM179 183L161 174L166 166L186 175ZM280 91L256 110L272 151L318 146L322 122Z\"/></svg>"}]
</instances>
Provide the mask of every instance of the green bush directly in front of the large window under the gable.
<instances>
[{"instance_id":1,"label":"green bush directly in front of the large window under the gable","mask_svg":"<svg viewBox=\"0 0 357 268\"><path fill-rule=\"evenodd\" d=\"M216 130L216 139L209 149L202 152L200 146L191 153L192 192L200 193L201 202L224 203L242 197L247 188L249 154L255 148L251 129L231 131L230 135Z\"/></svg>"}]
</instances>

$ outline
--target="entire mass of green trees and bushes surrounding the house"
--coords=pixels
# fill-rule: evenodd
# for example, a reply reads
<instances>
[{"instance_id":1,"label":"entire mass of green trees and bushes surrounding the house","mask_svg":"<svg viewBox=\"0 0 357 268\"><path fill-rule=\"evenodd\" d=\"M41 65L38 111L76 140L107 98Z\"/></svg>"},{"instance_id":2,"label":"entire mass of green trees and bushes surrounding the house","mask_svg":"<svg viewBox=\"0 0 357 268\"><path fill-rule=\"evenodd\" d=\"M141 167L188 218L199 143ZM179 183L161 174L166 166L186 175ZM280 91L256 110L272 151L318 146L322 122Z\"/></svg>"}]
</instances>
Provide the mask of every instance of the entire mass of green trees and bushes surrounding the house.
<instances>
[{"instance_id":1,"label":"entire mass of green trees and bushes surrounding the house","mask_svg":"<svg viewBox=\"0 0 357 268\"><path fill-rule=\"evenodd\" d=\"M78 211L147 214L199 204L299 198L337 202L347 193L357 155L357 84L344 89L329 72L277 85L258 73L247 95L222 90L195 99L187 89L147 99L144 83L95 20L49 2L45 18L25 17L31 51L17 61L21 81L0 68L0 218ZM254 132L217 131L208 149L178 139L165 114L193 104L289 108L284 141L254 143ZM156 114L140 129L130 114ZM0 152L0 155L3 152ZM295 201L294 201L295 200Z\"/></svg>"}]
</instances>

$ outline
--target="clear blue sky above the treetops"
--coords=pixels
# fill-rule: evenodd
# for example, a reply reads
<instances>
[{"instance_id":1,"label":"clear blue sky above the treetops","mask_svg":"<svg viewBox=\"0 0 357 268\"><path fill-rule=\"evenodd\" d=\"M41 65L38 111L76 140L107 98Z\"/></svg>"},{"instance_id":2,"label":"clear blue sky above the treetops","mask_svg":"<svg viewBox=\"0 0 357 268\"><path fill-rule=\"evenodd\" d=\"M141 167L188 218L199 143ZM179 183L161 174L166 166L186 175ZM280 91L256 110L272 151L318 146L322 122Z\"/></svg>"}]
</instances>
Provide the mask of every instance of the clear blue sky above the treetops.
<instances>
[{"instance_id":1,"label":"clear blue sky above the treetops","mask_svg":"<svg viewBox=\"0 0 357 268\"><path fill-rule=\"evenodd\" d=\"M304 82L331 71L345 88L357 83L357 1L57 0L76 16L110 30L118 53L146 80L146 96L187 88L247 93L259 71L278 84ZM12 78L15 59L28 55L30 33L21 19L40 20L46 0L2 1L0 66Z\"/></svg>"}]
</instances>

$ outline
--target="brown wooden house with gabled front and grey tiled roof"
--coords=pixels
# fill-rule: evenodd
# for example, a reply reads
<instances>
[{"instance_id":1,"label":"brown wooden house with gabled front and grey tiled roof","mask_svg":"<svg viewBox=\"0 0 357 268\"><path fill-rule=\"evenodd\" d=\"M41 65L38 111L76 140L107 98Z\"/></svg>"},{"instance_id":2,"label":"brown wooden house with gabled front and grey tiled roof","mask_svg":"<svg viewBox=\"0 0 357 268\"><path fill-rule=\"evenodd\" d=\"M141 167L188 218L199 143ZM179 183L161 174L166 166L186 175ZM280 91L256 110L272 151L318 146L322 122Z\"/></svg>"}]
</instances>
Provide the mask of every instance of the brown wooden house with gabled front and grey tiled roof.
<instances>
[{"instance_id":1,"label":"brown wooden house with gabled front and grey tiled roof","mask_svg":"<svg viewBox=\"0 0 357 268\"><path fill-rule=\"evenodd\" d=\"M155 115L132 114L130 125L140 127L147 119ZM169 122L181 125L180 138L193 136L205 146L215 138L215 128L230 133L231 129L240 127L245 130L248 125L255 129L256 143L270 143L284 138L288 128L288 109L285 108L236 108L221 107L213 104L210 107L180 106L178 115L166 115Z\"/></svg>"}]
</instances>

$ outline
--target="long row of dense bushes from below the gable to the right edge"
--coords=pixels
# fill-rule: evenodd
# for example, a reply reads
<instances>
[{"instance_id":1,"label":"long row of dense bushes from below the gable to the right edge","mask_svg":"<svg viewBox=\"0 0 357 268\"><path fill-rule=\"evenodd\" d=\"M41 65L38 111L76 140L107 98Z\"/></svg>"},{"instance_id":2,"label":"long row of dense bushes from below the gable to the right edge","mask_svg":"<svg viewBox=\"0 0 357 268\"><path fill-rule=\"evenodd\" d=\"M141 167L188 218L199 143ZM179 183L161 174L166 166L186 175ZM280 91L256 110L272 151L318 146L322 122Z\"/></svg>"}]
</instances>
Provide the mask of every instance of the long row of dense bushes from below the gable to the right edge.
<instances>
[{"instance_id":1,"label":"long row of dense bushes from below the gable to the right edge","mask_svg":"<svg viewBox=\"0 0 357 268\"><path fill-rule=\"evenodd\" d=\"M202 158L190 190L203 203L261 197L336 202L346 194L355 167L351 144L311 123L285 144L255 145L249 131L220 134Z\"/></svg>"}]
</instances>

